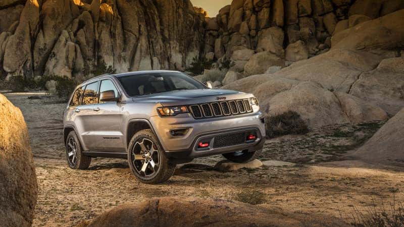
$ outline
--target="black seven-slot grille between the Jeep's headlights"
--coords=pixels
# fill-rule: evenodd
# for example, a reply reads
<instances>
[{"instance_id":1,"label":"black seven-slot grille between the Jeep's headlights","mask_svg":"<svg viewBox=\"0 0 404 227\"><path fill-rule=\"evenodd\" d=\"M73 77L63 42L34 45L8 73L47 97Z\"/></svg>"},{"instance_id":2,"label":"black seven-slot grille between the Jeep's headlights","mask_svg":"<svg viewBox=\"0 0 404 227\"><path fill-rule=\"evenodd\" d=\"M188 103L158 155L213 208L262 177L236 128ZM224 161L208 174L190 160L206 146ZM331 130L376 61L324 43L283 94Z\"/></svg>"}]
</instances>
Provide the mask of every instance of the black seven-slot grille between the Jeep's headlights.
<instances>
[{"instance_id":1,"label":"black seven-slot grille between the Jeep's headlights","mask_svg":"<svg viewBox=\"0 0 404 227\"><path fill-rule=\"evenodd\" d=\"M195 119L225 117L252 112L248 99L194 104L189 105L189 110Z\"/></svg>"}]
</instances>

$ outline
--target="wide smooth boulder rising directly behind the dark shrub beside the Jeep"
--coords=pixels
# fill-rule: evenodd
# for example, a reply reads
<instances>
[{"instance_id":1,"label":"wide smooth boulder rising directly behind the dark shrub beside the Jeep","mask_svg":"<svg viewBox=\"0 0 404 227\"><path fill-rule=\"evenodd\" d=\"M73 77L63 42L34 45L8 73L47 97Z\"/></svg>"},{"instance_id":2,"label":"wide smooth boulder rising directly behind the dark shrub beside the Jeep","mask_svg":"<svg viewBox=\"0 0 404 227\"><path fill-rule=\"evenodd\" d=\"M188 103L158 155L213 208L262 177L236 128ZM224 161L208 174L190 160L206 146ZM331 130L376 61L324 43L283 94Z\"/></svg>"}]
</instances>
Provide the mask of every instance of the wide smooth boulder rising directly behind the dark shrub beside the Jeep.
<instances>
[{"instance_id":1,"label":"wide smooth boulder rising directly behind the dark shrub beside the Jeep","mask_svg":"<svg viewBox=\"0 0 404 227\"><path fill-rule=\"evenodd\" d=\"M268 106L262 106L271 116L289 110L299 113L311 128L367 121L385 120L386 113L377 106L348 94L324 89L315 82L300 82L290 90L270 98Z\"/></svg>"}]
</instances>

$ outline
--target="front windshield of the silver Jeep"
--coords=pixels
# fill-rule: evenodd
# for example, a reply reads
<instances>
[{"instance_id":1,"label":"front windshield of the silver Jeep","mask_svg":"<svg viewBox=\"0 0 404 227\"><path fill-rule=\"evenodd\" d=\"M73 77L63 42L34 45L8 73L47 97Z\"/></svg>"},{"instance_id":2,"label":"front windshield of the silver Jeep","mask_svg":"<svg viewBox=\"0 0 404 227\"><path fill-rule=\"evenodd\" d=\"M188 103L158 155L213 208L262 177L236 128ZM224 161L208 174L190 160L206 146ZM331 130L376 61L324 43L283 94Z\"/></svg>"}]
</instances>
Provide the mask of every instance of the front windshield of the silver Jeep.
<instances>
[{"instance_id":1,"label":"front windshield of the silver Jeep","mask_svg":"<svg viewBox=\"0 0 404 227\"><path fill-rule=\"evenodd\" d=\"M204 89L203 84L182 73L145 73L118 77L126 93L131 96L155 94L175 90Z\"/></svg>"}]
</instances>

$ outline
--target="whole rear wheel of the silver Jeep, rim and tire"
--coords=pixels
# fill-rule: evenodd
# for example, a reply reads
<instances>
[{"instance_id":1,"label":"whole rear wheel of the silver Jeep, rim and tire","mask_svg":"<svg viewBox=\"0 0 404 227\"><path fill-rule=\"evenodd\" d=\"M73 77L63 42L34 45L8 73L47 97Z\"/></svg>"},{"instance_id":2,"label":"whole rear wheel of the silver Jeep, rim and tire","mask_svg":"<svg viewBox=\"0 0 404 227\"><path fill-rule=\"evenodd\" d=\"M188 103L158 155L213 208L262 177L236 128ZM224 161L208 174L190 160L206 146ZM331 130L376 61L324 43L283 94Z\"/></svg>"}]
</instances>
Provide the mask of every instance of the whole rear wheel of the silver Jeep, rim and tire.
<instances>
[{"instance_id":1,"label":"whole rear wheel of the silver Jeep, rim and tire","mask_svg":"<svg viewBox=\"0 0 404 227\"><path fill-rule=\"evenodd\" d=\"M66 138L66 158L69 167L73 169L87 169L91 163L91 157L82 153L80 141L74 131Z\"/></svg>"}]
</instances>

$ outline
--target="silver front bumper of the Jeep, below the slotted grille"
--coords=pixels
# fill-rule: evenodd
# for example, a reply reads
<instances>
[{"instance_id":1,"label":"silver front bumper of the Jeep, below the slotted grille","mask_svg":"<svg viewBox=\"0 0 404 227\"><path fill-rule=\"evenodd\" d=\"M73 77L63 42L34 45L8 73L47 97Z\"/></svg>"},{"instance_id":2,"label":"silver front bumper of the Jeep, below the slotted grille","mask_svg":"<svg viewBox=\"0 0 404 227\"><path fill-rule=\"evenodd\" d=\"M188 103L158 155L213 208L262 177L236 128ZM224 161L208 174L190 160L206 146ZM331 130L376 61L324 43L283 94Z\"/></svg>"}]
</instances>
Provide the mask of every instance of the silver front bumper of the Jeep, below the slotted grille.
<instances>
[{"instance_id":1,"label":"silver front bumper of the Jeep, below the slotted grille","mask_svg":"<svg viewBox=\"0 0 404 227\"><path fill-rule=\"evenodd\" d=\"M262 149L266 136L264 116L258 110L242 116L200 120L193 119L189 113L173 118L156 116L150 119L150 123L169 157L196 158L237 150L255 151ZM171 131L178 129L186 129L186 133L182 136L173 136ZM213 138L218 135L251 130L256 132L258 137L254 143L220 148L209 147L204 151L196 149L196 144L201 138Z\"/></svg>"}]
</instances>

